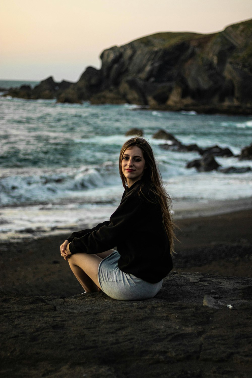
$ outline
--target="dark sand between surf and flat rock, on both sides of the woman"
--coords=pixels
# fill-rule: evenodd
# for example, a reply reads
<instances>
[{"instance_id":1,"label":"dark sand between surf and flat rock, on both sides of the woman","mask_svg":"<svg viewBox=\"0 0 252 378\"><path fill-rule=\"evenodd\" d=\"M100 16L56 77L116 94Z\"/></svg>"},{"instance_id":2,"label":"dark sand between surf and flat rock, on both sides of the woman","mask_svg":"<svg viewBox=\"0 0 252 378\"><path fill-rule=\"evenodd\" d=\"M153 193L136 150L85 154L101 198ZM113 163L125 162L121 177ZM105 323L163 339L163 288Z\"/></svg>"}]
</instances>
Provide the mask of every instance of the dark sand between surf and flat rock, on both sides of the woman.
<instances>
[{"instance_id":1,"label":"dark sand between surf and flat rock, on both sides of the woman","mask_svg":"<svg viewBox=\"0 0 252 378\"><path fill-rule=\"evenodd\" d=\"M177 220L173 271L223 276L252 275L252 210ZM60 257L68 234L1 244L0 290L26 295L70 296L82 292Z\"/></svg>"}]
</instances>

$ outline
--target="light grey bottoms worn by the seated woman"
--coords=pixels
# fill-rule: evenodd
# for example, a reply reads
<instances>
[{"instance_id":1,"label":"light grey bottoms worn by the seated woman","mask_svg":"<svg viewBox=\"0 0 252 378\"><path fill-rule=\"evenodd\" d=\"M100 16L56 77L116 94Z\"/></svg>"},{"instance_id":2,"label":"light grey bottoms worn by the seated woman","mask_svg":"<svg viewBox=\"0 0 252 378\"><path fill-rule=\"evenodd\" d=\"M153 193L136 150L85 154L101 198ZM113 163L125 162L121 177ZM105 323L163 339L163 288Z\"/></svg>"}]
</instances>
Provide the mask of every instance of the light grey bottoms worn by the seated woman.
<instances>
[{"instance_id":1,"label":"light grey bottoms worn by the seated woman","mask_svg":"<svg viewBox=\"0 0 252 378\"><path fill-rule=\"evenodd\" d=\"M105 294L119 301L141 301L152 298L159 292L163 280L150 283L133 274L124 273L118 267L119 258L119 253L114 251L100 262L98 281Z\"/></svg>"}]
</instances>

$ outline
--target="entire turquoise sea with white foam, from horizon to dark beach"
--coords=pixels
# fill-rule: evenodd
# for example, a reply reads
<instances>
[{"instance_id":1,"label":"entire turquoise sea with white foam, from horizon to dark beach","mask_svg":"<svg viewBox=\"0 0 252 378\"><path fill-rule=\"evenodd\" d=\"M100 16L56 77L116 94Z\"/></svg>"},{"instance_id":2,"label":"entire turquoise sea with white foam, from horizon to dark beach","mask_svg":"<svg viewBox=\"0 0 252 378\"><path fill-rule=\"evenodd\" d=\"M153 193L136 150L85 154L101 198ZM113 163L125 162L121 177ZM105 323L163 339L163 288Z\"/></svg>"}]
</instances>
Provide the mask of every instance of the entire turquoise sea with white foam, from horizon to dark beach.
<instances>
[{"instance_id":1,"label":"entire turquoise sea with white foam, from horizon to dark beach","mask_svg":"<svg viewBox=\"0 0 252 378\"><path fill-rule=\"evenodd\" d=\"M8 84L7 84L8 83ZM0 81L0 87L37 82ZM252 195L252 173L198 173L196 152L165 151L159 129L184 144L218 144L234 154L252 142L251 116L143 111L137 105L56 104L0 97L1 239L64 232L106 220L121 200L118 156L133 127L152 145L174 203L207 203ZM216 158L223 167L252 161ZM176 206L175 206L176 215Z\"/></svg>"}]
</instances>

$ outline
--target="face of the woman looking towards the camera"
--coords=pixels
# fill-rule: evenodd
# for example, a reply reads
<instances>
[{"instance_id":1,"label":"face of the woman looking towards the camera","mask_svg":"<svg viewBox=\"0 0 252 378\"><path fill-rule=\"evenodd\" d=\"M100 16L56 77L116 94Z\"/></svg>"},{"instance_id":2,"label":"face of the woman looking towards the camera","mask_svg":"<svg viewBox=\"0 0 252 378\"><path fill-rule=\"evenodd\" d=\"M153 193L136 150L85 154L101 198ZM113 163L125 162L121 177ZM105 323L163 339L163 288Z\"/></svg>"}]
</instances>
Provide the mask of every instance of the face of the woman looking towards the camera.
<instances>
[{"instance_id":1,"label":"face of the woman looking towards the camera","mask_svg":"<svg viewBox=\"0 0 252 378\"><path fill-rule=\"evenodd\" d=\"M128 187L140 180L144 175L145 160L141 148L133 146L122 155L122 173L126 177Z\"/></svg>"}]
</instances>

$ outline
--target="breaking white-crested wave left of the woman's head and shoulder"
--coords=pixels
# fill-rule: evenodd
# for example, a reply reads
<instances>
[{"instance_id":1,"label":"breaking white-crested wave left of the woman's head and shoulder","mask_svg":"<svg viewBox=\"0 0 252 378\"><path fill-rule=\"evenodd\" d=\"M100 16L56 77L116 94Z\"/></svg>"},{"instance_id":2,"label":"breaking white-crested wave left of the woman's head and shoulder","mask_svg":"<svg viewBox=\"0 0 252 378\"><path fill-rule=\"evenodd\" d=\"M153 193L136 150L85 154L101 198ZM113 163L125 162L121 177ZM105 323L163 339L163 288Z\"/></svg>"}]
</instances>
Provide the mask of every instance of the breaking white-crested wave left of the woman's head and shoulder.
<instances>
[{"instance_id":1,"label":"breaking white-crested wave left of the woman's head and shoulder","mask_svg":"<svg viewBox=\"0 0 252 378\"><path fill-rule=\"evenodd\" d=\"M71 197L74 192L104 187L118 181L117 166L106 162L102 166L83 166L72 173L44 175L9 175L0 178L0 204L45 203Z\"/></svg>"}]
</instances>

